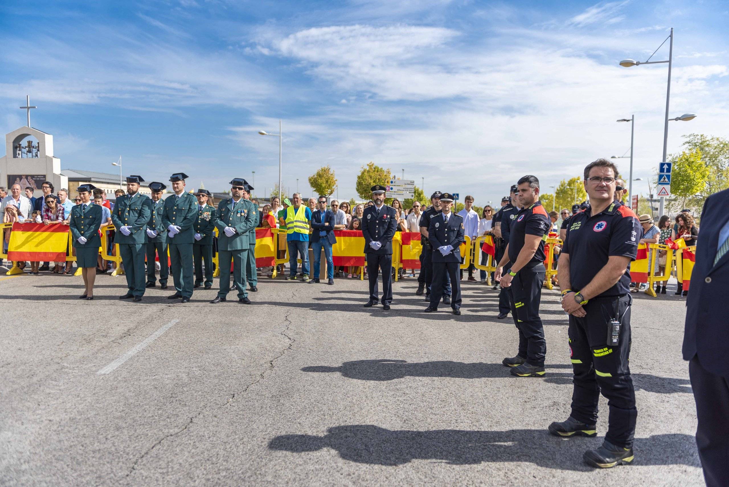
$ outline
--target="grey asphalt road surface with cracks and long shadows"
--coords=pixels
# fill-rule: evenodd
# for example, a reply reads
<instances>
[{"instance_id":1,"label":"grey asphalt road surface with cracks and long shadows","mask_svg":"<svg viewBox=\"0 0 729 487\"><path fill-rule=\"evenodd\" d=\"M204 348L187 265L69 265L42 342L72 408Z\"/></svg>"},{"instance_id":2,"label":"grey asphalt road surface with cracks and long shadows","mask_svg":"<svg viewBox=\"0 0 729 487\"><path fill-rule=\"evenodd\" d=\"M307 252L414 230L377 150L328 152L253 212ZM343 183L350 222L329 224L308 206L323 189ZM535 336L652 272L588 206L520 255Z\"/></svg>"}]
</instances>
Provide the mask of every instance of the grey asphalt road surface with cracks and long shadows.
<instances>
[{"instance_id":1,"label":"grey asphalt road surface with cracks and long shadows","mask_svg":"<svg viewBox=\"0 0 729 487\"><path fill-rule=\"evenodd\" d=\"M597 438L547 433L569 416L558 291L542 295L545 378L514 378L497 292L463 282L461 316L423 313L416 281L391 311L367 281L260 278L252 305L190 303L123 276L0 276L2 486L699 486L681 359L685 297L634 295L636 460L593 470Z\"/></svg>"}]
</instances>

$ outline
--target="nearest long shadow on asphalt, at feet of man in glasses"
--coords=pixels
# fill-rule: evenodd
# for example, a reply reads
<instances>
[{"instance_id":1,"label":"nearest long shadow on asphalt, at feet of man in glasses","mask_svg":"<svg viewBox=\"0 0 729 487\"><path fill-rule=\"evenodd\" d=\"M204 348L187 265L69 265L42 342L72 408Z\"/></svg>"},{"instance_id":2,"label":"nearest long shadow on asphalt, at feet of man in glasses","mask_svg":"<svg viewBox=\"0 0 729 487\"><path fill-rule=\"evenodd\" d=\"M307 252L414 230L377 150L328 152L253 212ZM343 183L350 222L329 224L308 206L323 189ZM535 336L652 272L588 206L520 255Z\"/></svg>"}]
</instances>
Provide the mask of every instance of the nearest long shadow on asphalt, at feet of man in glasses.
<instances>
[{"instance_id":1,"label":"nearest long shadow on asphalt, at feet of man in glasses","mask_svg":"<svg viewBox=\"0 0 729 487\"><path fill-rule=\"evenodd\" d=\"M291 453L332 448L342 459L385 466L413 460L440 460L453 465L521 461L557 470L590 471L593 469L582 464L582 453L600 444L599 439L562 440L550 436L546 429L391 431L354 424L332 427L324 436L281 435L270 440L268 448ZM690 435L636 438L634 448L635 464L701 466Z\"/></svg>"}]
</instances>

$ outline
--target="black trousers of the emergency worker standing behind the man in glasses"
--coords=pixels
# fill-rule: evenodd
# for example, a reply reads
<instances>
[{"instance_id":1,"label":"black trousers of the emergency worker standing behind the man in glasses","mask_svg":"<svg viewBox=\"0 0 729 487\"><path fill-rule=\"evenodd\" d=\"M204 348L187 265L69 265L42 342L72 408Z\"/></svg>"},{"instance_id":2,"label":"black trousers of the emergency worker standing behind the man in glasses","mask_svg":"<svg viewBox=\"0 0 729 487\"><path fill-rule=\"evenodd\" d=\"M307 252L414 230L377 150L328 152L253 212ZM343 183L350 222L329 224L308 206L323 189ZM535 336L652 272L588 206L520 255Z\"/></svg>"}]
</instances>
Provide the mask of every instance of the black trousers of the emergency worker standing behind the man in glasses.
<instances>
[{"instance_id":1,"label":"black trousers of the emergency worker standing behind the man in glasses","mask_svg":"<svg viewBox=\"0 0 729 487\"><path fill-rule=\"evenodd\" d=\"M505 269L505 268L504 268ZM516 273L507 287L510 294L511 313L519 330L519 356L526 357L531 365L545 365L547 342L542 319L539 318L539 301L542 299L542 284L545 281L545 266L523 268Z\"/></svg>"}]
</instances>

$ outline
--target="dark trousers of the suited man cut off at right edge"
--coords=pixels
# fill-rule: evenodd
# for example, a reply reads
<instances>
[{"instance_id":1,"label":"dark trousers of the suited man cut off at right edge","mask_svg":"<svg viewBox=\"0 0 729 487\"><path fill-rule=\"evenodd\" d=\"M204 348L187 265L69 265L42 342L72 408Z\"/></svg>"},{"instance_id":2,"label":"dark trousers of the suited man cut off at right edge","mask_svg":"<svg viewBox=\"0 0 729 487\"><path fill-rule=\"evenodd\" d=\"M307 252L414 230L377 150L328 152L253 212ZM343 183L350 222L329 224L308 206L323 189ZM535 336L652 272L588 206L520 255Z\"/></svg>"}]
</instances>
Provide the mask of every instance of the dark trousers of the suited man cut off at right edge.
<instances>
[{"instance_id":1,"label":"dark trousers of the suited man cut off at right edge","mask_svg":"<svg viewBox=\"0 0 729 487\"><path fill-rule=\"evenodd\" d=\"M696 445L707 487L729 486L729 377L701 366L698 355L688 364L696 401Z\"/></svg>"}]
</instances>

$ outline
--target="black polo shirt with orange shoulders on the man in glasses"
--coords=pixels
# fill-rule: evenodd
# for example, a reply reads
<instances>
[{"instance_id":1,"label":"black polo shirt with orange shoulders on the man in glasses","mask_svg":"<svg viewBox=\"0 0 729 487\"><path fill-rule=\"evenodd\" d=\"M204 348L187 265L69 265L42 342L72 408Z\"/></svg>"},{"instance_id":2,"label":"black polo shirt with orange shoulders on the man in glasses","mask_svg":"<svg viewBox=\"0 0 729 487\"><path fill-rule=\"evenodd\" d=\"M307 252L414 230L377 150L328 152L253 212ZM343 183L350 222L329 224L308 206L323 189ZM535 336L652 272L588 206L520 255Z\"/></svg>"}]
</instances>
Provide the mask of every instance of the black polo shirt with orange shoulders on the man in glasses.
<instances>
[{"instance_id":1,"label":"black polo shirt with orange shoulders on the man in glasses","mask_svg":"<svg viewBox=\"0 0 729 487\"><path fill-rule=\"evenodd\" d=\"M569 254L569 280L577 292L589 284L607 264L608 257L630 257L638 254L638 242L643 229L638 217L623 203L614 201L599 214L592 209L574 214L564 238L562 253ZM621 296L630 292L630 265L617 283L596 297Z\"/></svg>"}]
</instances>

